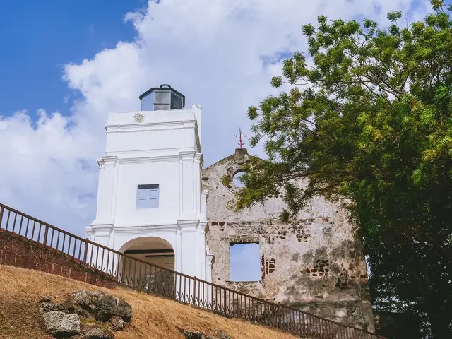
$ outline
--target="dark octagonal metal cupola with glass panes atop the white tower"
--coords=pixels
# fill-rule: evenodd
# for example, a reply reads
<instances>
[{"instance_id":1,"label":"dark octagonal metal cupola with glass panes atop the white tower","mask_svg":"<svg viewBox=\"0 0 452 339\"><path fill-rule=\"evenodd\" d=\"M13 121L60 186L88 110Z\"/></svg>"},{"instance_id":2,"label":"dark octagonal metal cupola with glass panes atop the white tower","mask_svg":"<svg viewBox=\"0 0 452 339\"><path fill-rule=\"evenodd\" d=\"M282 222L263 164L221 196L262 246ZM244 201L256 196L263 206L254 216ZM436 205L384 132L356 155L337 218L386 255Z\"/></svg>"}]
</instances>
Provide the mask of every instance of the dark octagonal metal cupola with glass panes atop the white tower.
<instances>
[{"instance_id":1,"label":"dark octagonal metal cupola with glass panes atop the white tower","mask_svg":"<svg viewBox=\"0 0 452 339\"><path fill-rule=\"evenodd\" d=\"M167 84L146 90L140 95L140 100L142 111L168 111L169 109L182 109L185 106L185 95Z\"/></svg>"}]
</instances>

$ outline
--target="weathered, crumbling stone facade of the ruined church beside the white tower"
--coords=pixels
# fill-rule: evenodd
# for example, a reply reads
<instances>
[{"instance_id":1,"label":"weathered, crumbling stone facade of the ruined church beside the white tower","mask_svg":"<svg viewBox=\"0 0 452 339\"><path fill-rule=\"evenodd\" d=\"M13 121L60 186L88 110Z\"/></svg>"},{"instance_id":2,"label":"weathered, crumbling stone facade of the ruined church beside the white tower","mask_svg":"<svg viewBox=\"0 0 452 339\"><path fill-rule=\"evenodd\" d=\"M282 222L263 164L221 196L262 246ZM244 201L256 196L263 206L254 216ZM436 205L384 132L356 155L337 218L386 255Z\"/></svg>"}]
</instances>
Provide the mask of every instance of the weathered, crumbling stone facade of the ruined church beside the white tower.
<instances>
[{"instance_id":1,"label":"weathered, crumbling stone facade of the ruined church beside the white tower","mask_svg":"<svg viewBox=\"0 0 452 339\"><path fill-rule=\"evenodd\" d=\"M239 189L232 177L249 159L246 149L237 149L203 169L213 283L374 331L364 254L345 209L314 198L296 221L283 222L286 206L277 196L234 213L227 208ZM259 244L261 280L232 282L230 245L249 242Z\"/></svg>"}]
</instances>

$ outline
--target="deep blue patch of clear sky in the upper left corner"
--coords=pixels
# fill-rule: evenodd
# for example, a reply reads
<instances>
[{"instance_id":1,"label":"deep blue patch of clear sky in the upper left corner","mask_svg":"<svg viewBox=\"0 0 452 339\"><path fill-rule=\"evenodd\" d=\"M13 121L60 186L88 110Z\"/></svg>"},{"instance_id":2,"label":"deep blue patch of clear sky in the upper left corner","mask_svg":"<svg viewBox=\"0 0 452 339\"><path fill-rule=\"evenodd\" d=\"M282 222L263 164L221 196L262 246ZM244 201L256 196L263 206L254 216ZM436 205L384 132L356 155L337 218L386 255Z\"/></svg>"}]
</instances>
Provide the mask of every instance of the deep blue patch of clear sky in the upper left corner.
<instances>
[{"instance_id":1,"label":"deep blue patch of clear sky in the upper left corner","mask_svg":"<svg viewBox=\"0 0 452 339\"><path fill-rule=\"evenodd\" d=\"M145 5L144 0L0 1L0 112L45 107L69 114L71 100L80 94L61 81L64 64L133 40L124 15Z\"/></svg>"}]
</instances>

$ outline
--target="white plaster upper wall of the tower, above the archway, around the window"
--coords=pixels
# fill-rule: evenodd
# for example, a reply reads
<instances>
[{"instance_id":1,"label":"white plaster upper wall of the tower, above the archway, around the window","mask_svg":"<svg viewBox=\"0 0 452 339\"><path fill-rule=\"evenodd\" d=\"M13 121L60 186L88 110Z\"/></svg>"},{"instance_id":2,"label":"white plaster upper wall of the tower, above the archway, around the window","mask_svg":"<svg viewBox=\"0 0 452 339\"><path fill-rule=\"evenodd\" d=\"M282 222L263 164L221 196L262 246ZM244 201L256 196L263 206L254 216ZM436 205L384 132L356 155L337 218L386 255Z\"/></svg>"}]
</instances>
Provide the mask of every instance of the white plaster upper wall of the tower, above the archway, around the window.
<instances>
[{"instance_id":1,"label":"white plaster upper wall of the tower, above the archway, around the window","mask_svg":"<svg viewBox=\"0 0 452 339\"><path fill-rule=\"evenodd\" d=\"M141 119L136 119L137 114ZM145 226L204 220L201 211L201 107L109 114L99 160L93 225ZM159 185L158 208L136 208L139 184Z\"/></svg>"}]
</instances>

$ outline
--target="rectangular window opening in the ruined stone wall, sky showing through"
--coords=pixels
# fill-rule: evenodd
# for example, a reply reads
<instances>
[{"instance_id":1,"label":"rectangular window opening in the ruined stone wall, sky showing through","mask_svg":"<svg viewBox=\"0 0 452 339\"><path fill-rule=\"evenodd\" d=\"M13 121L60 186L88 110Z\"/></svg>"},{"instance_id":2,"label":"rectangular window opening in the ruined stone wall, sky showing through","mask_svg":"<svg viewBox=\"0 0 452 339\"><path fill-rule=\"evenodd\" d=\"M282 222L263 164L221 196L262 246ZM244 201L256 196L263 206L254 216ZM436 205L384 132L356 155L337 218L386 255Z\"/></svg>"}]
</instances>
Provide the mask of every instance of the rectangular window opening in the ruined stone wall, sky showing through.
<instances>
[{"instance_id":1,"label":"rectangular window opening in the ruined stone wall, sky showing through","mask_svg":"<svg viewBox=\"0 0 452 339\"><path fill-rule=\"evenodd\" d=\"M258 242L230 244L230 281L261 281Z\"/></svg>"}]
</instances>

